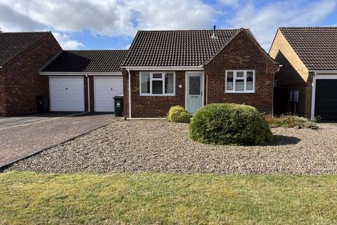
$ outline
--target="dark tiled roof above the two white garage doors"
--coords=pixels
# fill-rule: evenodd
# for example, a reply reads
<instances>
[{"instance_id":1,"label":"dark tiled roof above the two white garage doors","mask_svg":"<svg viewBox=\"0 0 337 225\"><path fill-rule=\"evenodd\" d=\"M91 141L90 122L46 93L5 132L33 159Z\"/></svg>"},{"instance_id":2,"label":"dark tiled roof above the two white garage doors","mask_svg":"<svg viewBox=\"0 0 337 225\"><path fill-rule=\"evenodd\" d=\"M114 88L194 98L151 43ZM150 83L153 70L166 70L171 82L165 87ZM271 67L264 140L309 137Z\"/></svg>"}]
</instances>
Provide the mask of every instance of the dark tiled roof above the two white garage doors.
<instances>
[{"instance_id":1,"label":"dark tiled roof above the two white garage doors","mask_svg":"<svg viewBox=\"0 0 337 225\"><path fill-rule=\"evenodd\" d=\"M127 50L62 51L41 72L121 72Z\"/></svg>"}]
</instances>

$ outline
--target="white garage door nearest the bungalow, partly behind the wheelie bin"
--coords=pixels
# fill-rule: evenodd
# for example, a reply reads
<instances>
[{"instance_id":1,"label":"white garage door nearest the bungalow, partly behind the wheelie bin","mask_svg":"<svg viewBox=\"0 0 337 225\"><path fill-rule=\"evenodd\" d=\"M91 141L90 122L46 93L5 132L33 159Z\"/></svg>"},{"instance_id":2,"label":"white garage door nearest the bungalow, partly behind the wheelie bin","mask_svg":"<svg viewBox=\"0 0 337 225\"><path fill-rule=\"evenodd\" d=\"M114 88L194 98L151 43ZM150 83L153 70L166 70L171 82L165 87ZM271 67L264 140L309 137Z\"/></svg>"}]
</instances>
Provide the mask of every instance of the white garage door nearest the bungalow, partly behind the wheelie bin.
<instances>
[{"instance_id":1,"label":"white garage door nearest the bungalow, partly behind the wheelie bin","mask_svg":"<svg viewBox=\"0 0 337 225\"><path fill-rule=\"evenodd\" d=\"M123 77L95 77L95 112L114 112L114 96L123 94Z\"/></svg>"}]
</instances>

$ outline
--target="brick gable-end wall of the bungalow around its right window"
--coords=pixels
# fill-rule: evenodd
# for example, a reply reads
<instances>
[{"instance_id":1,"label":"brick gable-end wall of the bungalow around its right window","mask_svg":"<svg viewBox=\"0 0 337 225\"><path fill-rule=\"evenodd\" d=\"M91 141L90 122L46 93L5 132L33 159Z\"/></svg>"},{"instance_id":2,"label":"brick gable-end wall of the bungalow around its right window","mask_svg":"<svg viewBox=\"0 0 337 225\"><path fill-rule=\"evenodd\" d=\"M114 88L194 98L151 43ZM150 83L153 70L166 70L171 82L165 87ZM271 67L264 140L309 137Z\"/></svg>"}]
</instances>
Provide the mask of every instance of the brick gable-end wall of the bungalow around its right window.
<instances>
[{"instance_id":1,"label":"brick gable-end wall of the bungalow around its right window","mask_svg":"<svg viewBox=\"0 0 337 225\"><path fill-rule=\"evenodd\" d=\"M253 105L260 112L272 113L274 75L279 65L270 63L258 47L241 33L216 58L204 65L207 104L239 103ZM226 70L255 70L255 93L225 93Z\"/></svg>"}]
</instances>

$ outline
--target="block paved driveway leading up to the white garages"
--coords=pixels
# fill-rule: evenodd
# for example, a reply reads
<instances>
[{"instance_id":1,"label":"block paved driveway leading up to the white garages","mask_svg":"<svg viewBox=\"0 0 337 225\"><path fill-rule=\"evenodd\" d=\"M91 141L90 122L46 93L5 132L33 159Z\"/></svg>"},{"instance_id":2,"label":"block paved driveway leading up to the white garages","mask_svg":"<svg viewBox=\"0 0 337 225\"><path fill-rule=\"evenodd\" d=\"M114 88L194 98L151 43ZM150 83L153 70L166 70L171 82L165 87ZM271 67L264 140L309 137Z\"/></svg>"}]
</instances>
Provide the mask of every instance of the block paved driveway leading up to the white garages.
<instances>
[{"instance_id":1,"label":"block paved driveway leading up to the white garages","mask_svg":"<svg viewBox=\"0 0 337 225\"><path fill-rule=\"evenodd\" d=\"M0 130L0 167L116 120L112 114L59 117Z\"/></svg>"}]
</instances>

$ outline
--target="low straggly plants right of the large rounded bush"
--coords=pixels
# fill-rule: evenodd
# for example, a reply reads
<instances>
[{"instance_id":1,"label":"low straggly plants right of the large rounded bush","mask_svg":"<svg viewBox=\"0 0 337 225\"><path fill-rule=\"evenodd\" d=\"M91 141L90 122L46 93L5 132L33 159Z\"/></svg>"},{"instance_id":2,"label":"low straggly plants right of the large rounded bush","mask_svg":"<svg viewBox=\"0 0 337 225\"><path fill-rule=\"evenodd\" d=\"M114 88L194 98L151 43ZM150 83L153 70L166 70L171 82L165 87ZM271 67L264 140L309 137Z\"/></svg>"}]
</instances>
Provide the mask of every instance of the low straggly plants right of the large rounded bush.
<instances>
[{"instance_id":1,"label":"low straggly plants right of the large rounded bush","mask_svg":"<svg viewBox=\"0 0 337 225\"><path fill-rule=\"evenodd\" d=\"M316 127L314 121L308 120L305 117L298 117L297 115L281 115L273 117L272 115L265 115L265 120L270 127L298 127L298 128L312 128Z\"/></svg>"}]
</instances>

